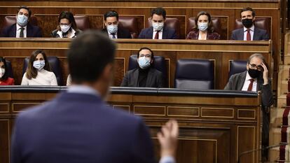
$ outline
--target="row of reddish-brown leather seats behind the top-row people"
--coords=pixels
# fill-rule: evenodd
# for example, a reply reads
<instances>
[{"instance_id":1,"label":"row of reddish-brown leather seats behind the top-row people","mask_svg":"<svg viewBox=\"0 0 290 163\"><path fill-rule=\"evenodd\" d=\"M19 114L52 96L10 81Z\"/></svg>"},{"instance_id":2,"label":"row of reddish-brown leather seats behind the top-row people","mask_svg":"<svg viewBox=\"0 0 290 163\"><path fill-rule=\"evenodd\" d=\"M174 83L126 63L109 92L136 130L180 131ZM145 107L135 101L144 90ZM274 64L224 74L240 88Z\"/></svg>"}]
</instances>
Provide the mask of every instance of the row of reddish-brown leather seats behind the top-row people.
<instances>
[{"instance_id":1,"label":"row of reddish-brown leather seats behind the top-row people","mask_svg":"<svg viewBox=\"0 0 290 163\"><path fill-rule=\"evenodd\" d=\"M76 20L76 25L78 29L81 30L86 30L90 29L90 20L88 16L85 15L75 15L74 16ZM37 25L38 21L36 16L30 17L29 22L33 25ZM4 20L4 27L11 26L12 24L16 23L16 16L6 16ZM132 38L138 38L138 34L141 31L137 17L134 16L120 16L119 17L119 24L121 27L124 27L128 29L131 32ZM151 18L148 19L148 24L151 26ZM167 17L165 24L169 27L174 28L177 31L177 35L180 36L180 22L177 18L174 17ZM214 27L214 30L222 34L222 27L221 27L221 20L219 17L212 17L212 24ZM195 27L195 17L189 17L187 21L187 31L186 34L188 34L193 27ZM256 20L254 22L254 25L258 28L265 29L268 31L268 34L271 34L270 29L271 29L271 23L270 23L270 18L268 17L256 17ZM55 24L55 27L57 24ZM235 29L242 28L242 21L240 19L235 20ZM270 36L270 35L269 35Z\"/></svg>"}]
</instances>

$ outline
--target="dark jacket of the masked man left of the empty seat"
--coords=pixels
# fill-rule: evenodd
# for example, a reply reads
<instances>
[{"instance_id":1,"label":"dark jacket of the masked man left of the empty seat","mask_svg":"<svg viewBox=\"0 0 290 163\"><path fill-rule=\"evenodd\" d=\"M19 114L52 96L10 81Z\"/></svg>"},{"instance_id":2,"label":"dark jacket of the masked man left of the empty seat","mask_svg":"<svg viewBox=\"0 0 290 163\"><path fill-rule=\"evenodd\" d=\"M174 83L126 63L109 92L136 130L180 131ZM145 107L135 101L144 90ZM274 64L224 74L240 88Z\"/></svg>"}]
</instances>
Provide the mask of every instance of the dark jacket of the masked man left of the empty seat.
<instances>
[{"instance_id":1,"label":"dark jacket of the masked man left of the empty seat","mask_svg":"<svg viewBox=\"0 0 290 163\"><path fill-rule=\"evenodd\" d=\"M127 71L123 78L123 82L120 85L121 87L139 87L138 83L139 68L132 69ZM157 69L150 68L147 80L146 87L163 87L163 74Z\"/></svg>"}]
</instances>

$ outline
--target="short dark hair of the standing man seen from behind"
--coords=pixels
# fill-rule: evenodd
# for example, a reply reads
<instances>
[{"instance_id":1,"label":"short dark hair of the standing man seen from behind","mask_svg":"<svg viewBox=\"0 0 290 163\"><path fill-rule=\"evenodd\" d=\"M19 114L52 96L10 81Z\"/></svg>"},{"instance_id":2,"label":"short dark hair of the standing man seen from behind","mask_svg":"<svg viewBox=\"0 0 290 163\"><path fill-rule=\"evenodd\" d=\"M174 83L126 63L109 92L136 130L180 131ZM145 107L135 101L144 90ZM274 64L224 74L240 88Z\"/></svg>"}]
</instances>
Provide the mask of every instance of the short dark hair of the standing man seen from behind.
<instances>
[{"instance_id":1,"label":"short dark hair of the standing man seen from behind","mask_svg":"<svg viewBox=\"0 0 290 163\"><path fill-rule=\"evenodd\" d=\"M113 63L116 45L101 31L84 31L67 52L71 81L95 82L107 64Z\"/></svg>"}]
</instances>

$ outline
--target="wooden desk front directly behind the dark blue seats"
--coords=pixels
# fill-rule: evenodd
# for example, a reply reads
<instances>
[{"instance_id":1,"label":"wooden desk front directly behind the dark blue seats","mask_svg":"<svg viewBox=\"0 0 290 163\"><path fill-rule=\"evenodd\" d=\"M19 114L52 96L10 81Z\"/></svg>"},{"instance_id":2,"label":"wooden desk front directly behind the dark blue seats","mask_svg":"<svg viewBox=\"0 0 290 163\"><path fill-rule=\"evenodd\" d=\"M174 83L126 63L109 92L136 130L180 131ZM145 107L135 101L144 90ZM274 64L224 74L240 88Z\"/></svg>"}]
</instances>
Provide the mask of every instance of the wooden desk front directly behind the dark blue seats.
<instances>
[{"instance_id":1,"label":"wooden desk front directly behind the dark blue seats","mask_svg":"<svg viewBox=\"0 0 290 163\"><path fill-rule=\"evenodd\" d=\"M29 57L33 50L43 49L48 56L60 58L63 83L66 83L67 71L66 52L71 39L65 38L0 38L0 56L6 57L13 64L15 84L22 80L23 59ZM215 89L222 90L228 82L229 61L246 60L255 52L265 56L271 66L271 41L195 41L195 40L140 40L118 39L115 58L114 86L119 86L127 71L130 55L137 54L141 47L149 47L154 55L165 57L167 64L167 85L173 87L176 63L178 59L210 59L215 65ZM277 78L273 79L275 81ZM276 90L273 84L273 90Z\"/></svg>"}]
</instances>

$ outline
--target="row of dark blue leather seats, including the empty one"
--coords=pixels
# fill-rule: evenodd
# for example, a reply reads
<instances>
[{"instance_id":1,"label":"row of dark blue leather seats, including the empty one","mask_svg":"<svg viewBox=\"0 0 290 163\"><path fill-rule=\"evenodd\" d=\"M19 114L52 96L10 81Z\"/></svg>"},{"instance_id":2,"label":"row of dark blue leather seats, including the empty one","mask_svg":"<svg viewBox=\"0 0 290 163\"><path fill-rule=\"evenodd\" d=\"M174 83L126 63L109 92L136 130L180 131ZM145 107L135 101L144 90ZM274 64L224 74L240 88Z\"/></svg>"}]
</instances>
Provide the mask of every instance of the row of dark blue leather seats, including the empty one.
<instances>
[{"instance_id":1,"label":"row of dark blue leather seats, including the empty one","mask_svg":"<svg viewBox=\"0 0 290 163\"><path fill-rule=\"evenodd\" d=\"M13 70L11 62L7 62L8 76L13 78ZM48 57L51 69L57 78L57 84L62 85L62 69L60 60L57 57ZM25 58L22 75L27 69L29 58ZM228 76L235 73L240 73L246 70L247 61L230 61L230 71ZM137 55L131 55L129 59L128 71L137 68ZM165 58L162 56L154 56L153 67L163 73L163 78L166 78L167 69ZM198 70L198 71L193 71ZM200 70L202 73L200 73ZM175 72L174 87L185 89L214 89L214 63L205 59L179 59Z\"/></svg>"}]
</instances>

